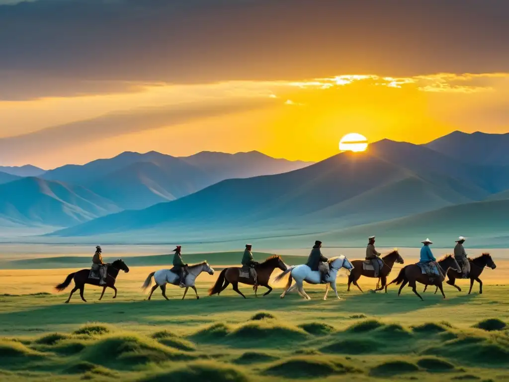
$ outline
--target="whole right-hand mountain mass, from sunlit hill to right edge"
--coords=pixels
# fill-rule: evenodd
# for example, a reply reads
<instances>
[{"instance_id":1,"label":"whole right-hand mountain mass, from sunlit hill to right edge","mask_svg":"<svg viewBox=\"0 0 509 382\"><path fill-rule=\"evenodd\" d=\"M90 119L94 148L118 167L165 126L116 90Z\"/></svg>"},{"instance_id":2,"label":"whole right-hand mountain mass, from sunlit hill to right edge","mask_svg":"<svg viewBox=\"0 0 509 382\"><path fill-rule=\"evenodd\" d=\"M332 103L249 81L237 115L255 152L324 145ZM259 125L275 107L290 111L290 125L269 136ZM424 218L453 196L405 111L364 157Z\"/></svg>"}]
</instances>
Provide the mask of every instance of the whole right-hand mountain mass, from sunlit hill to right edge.
<instances>
[{"instance_id":1,"label":"whole right-hand mountain mass, from sunlit hill to right edge","mask_svg":"<svg viewBox=\"0 0 509 382\"><path fill-rule=\"evenodd\" d=\"M462 233L457 230L467 226L475 233L478 224L483 227L478 232L488 232L500 223L489 219L491 214L509 208L509 155L506 160L499 150L496 160L486 160L486 150L478 142L503 147L509 135L498 138L454 132L426 145L382 140L363 153L340 153L277 175L224 180L169 203L107 215L52 235L150 233L151 240L157 240L178 239L190 230L246 237L309 233L328 237L334 232L331 239L336 240L364 237L376 229L395 239L398 232L412 229L420 230L420 236L430 235L435 219L440 233L458 236ZM447 142L454 146L457 141L469 153L468 160L463 160L463 150L447 149ZM482 214L484 207L488 212ZM459 225L455 216L463 223ZM499 225L497 230L504 228Z\"/></svg>"}]
</instances>

